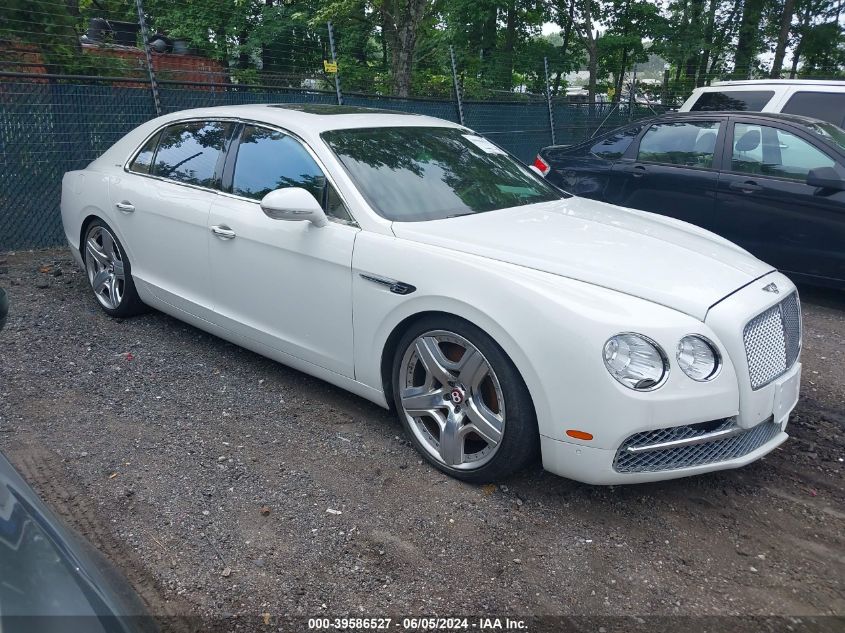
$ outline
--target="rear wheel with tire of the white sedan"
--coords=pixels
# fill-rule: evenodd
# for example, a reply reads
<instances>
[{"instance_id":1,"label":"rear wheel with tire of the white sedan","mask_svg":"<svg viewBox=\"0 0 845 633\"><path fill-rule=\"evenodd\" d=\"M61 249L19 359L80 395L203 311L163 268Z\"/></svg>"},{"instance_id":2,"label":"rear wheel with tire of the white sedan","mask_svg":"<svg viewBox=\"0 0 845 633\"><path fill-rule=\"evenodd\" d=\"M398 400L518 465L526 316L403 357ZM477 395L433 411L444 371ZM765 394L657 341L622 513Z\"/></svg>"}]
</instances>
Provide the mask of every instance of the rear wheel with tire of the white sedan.
<instances>
[{"instance_id":1,"label":"rear wheel with tire of the white sedan","mask_svg":"<svg viewBox=\"0 0 845 633\"><path fill-rule=\"evenodd\" d=\"M128 317L145 311L126 251L102 220L94 220L85 232L83 257L88 283L106 314Z\"/></svg>"}]
</instances>

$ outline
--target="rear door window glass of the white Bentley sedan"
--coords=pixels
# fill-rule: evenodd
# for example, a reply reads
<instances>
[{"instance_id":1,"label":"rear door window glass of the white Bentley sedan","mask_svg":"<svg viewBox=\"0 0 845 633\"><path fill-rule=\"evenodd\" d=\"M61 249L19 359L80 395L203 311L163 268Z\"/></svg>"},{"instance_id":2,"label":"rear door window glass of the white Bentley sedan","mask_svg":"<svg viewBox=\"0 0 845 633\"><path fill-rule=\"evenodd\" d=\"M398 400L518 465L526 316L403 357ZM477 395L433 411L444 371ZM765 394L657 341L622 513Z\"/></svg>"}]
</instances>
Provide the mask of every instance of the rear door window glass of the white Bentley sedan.
<instances>
[{"instance_id":1,"label":"rear door window glass of the white Bentley sedan","mask_svg":"<svg viewBox=\"0 0 845 633\"><path fill-rule=\"evenodd\" d=\"M221 121L192 121L166 128L155 157L155 175L216 187L215 167L229 132Z\"/></svg>"}]
</instances>

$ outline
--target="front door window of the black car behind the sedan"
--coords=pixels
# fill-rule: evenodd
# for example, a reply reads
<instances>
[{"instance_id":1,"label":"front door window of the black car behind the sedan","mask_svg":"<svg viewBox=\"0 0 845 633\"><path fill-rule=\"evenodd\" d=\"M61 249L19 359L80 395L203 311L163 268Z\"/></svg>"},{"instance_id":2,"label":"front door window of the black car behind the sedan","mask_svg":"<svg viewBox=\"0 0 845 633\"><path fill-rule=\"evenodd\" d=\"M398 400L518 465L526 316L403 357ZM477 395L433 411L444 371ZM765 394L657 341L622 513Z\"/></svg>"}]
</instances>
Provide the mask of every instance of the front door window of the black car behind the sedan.
<instances>
[{"instance_id":1,"label":"front door window of the black car behind the sedan","mask_svg":"<svg viewBox=\"0 0 845 633\"><path fill-rule=\"evenodd\" d=\"M827 154L785 130L748 123L734 125L731 171L805 180L811 169L834 165Z\"/></svg>"}]
</instances>

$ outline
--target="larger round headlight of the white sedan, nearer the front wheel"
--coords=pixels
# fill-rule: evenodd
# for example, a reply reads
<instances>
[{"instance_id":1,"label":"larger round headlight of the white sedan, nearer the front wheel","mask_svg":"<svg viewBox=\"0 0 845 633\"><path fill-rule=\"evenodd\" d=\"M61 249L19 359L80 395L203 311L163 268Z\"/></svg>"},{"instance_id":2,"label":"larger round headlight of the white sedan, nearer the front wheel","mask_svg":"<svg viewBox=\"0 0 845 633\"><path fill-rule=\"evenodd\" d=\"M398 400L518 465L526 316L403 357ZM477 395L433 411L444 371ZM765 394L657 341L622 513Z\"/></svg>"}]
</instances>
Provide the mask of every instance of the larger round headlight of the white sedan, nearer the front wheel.
<instances>
[{"instance_id":1,"label":"larger round headlight of the white sedan, nearer the front wheel","mask_svg":"<svg viewBox=\"0 0 845 633\"><path fill-rule=\"evenodd\" d=\"M611 376L637 391L657 389L669 375L669 360L660 346L631 332L617 334L604 344L604 364Z\"/></svg>"}]
</instances>

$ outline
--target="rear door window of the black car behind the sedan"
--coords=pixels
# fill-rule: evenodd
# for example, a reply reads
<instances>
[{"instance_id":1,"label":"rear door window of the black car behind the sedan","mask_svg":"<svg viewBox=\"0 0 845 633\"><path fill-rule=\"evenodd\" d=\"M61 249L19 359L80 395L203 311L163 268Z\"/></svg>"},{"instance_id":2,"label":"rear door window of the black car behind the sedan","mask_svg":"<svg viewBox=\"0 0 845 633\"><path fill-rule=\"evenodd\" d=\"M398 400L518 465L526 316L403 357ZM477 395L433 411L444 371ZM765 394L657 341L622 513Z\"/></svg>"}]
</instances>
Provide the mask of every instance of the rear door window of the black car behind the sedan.
<instances>
[{"instance_id":1,"label":"rear door window of the black car behind the sedan","mask_svg":"<svg viewBox=\"0 0 845 633\"><path fill-rule=\"evenodd\" d=\"M640 141L637 160L687 167L712 167L718 121L680 121L652 125Z\"/></svg>"}]
</instances>

